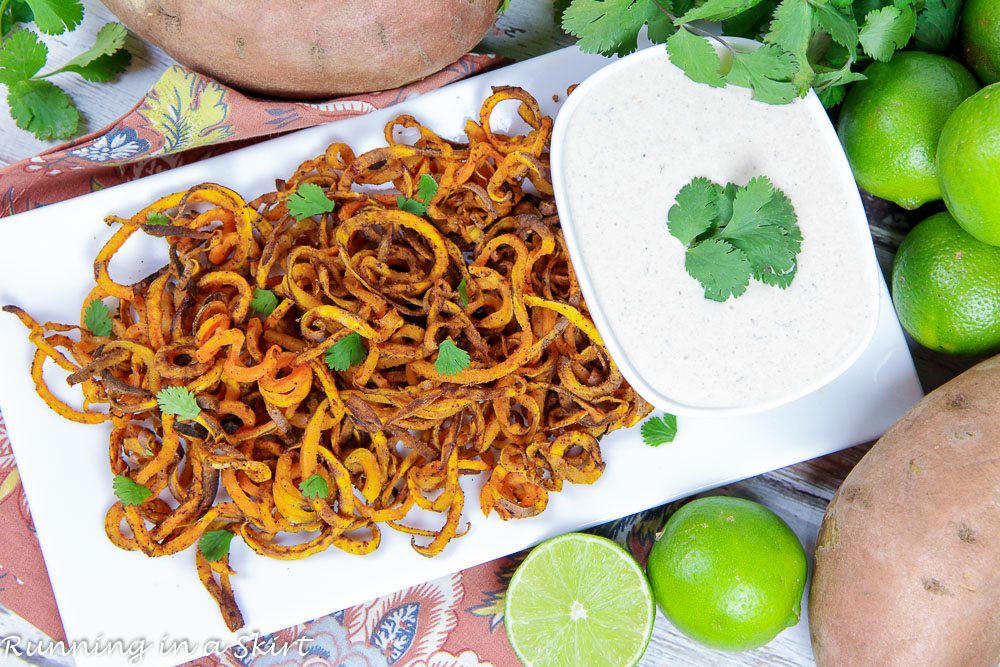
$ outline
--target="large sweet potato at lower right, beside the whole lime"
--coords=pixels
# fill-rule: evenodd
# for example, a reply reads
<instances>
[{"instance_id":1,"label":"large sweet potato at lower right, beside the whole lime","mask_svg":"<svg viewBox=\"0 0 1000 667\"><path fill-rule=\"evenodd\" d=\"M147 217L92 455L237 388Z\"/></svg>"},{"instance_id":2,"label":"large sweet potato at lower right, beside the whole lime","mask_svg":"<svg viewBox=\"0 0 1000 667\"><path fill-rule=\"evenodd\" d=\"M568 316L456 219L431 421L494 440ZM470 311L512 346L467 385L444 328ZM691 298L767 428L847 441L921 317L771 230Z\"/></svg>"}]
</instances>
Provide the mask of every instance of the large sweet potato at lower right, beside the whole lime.
<instances>
[{"instance_id":1,"label":"large sweet potato at lower right, beside the whole lime","mask_svg":"<svg viewBox=\"0 0 1000 667\"><path fill-rule=\"evenodd\" d=\"M821 667L1000 664L1000 356L920 401L844 480L809 615Z\"/></svg>"}]
</instances>

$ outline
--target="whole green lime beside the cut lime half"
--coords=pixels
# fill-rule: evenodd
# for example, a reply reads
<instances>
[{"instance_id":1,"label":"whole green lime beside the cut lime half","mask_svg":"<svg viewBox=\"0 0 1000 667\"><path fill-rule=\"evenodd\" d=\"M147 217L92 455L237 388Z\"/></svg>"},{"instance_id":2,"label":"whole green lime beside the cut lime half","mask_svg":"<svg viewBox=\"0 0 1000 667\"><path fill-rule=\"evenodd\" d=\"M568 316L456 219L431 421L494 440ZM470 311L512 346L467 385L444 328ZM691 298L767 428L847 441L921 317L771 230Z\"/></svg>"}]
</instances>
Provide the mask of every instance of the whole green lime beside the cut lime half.
<instances>
[{"instance_id":1,"label":"whole green lime beside the cut lime half","mask_svg":"<svg viewBox=\"0 0 1000 667\"><path fill-rule=\"evenodd\" d=\"M806 569L802 544L781 517L724 496L679 509L646 565L667 618L727 651L763 646L799 622Z\"/></svg>"}]
</instances>

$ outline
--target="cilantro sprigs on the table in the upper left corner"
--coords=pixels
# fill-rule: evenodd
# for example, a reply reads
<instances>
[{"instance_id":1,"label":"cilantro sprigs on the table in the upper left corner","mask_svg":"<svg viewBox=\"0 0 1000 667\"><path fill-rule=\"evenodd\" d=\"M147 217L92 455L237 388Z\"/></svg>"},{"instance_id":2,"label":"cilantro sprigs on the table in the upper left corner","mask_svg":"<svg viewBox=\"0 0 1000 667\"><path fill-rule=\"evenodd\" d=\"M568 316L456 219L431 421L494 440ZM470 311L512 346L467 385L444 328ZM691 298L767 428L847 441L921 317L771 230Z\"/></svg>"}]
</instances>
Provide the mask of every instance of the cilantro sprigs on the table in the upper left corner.
<instances>
[{"instance_id":1,"label":"cilantro sprigs on the table in the upper left corner","mask_svg":"<svg viewBox=\"0 0 1000 667\"><path fill-rule=\"evenodd\" d=\"M39 139L69 139L80 125L80 113L66 92L49 78L77 74L87 81L111 81L128 67L126 30L109 23L93 46L62 67L42 73L48 47L35 28L46 35L73 31L83 20L80 0L0 0L0 84L7 87L10 115L22 130Z\"/></svg>"}]
</instances>

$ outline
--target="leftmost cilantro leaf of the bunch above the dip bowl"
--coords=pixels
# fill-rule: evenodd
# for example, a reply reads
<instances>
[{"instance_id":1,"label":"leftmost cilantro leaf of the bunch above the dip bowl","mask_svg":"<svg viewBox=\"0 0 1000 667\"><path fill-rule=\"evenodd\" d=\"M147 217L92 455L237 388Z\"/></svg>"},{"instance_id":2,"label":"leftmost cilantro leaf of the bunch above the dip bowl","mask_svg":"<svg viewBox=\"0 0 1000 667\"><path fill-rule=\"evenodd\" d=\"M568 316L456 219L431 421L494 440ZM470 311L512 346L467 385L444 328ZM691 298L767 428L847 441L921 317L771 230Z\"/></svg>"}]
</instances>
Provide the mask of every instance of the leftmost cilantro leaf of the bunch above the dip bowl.
<instances>
[{"instance_id":1,"label":"leftmost cilantro leaf of the bunch above the dip bowl","mask_svg":"<svg viewBox=\"0 0 1000 667\"><path fill-rule=\"evenodd\" d=\"M562 28L580 39L585 53L624 56L636 50L639 30L658 14L653 0L573 0Z\"/></svg>"}]
</instances>

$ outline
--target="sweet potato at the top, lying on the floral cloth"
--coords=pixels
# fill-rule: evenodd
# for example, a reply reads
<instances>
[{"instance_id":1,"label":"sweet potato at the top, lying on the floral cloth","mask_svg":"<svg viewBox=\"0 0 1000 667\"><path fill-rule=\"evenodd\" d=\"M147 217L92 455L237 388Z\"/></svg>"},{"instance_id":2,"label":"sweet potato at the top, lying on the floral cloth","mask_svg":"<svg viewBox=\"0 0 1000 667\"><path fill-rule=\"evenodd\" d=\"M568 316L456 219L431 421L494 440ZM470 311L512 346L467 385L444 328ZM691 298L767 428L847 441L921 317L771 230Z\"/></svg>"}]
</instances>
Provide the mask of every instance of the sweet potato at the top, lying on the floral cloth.
<instances>
[{"instance_id":1,"label":"sweet potato at the top, lying on the floral cloth","mask_svg":"<svg viewBox=\"0 0 1000 667\"><path fill-rule=\"evenodd\" d=\"M293 98L394 88L454 62L497 0L103 0L182 65Z\"/></svg>"}]
</instances>

